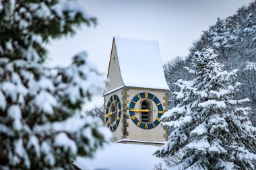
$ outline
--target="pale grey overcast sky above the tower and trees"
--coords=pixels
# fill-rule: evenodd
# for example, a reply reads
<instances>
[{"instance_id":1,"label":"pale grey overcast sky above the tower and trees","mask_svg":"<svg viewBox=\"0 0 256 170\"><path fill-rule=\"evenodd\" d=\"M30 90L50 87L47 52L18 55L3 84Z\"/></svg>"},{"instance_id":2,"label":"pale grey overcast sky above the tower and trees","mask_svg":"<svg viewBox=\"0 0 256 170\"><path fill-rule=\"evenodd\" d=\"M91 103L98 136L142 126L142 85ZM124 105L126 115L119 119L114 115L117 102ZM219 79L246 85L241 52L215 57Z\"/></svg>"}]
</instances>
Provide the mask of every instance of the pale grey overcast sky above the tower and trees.
<instances>
[{"instance_id":1,"label":"pale grey overcast sky above the tower and trees","mask_svg":"<svg viewBox=\"0 0 256 170\"><path fill-rule=\"evenodd\" d=\"M49 66L67 66L77 52L90 60L106 79L114 36L157 40L162 63L186 56L203 30L233 15L252 0L77 0L98 19L97 26L77 28L75 36L53 40L48 45ZM102 87L102 91L104 86ZM102 105L102 91L87 101L84 109Z\"/></svg>"}]
</instances>

